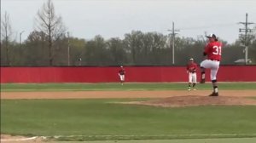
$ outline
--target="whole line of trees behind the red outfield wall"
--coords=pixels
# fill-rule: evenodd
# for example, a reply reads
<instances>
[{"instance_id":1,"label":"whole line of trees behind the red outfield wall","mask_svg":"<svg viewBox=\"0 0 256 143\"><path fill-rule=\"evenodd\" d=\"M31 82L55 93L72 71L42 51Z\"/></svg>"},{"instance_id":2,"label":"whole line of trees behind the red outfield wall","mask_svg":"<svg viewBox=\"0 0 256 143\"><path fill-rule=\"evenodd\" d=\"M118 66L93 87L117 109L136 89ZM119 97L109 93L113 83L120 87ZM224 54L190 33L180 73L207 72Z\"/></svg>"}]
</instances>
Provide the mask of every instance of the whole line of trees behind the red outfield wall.
<instances>
[{"instance_id":1,"label":"whole line of trees behind the red outfield wall","mask_svg":"<svg viewBox=\"0 0 256 143\"><path fill-rule=\"evenodd\" d=\"M51 0L38 10L37 28L23 43L11 40L9 14L2 21L1 66L172 66L172 35L159 32L131 31L123 39L104 39L97 35L85 40L70 37L61 16L55 14ZM239 40L223 47L223 65L244 59ZM256 63L255 34L249 42L248 58ZM175 37L176 66L186 65L189 58L200 63L206 41L201 37Z\"/></svg>"}]
</instances>

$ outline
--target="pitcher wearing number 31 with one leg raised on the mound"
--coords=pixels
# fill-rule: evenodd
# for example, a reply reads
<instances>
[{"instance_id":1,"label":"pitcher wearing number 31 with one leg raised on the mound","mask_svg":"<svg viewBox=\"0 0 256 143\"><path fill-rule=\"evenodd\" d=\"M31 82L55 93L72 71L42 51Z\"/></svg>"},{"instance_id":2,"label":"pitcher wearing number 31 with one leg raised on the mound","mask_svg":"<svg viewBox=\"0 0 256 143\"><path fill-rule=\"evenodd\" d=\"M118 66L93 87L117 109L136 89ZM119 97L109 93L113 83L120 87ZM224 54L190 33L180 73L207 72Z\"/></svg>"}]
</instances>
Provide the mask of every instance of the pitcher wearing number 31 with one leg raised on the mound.
<instances>
[{"instance_id":1,"label":"pitcher wearing number 31 with one leg raised on the mound","mask_svg":"<svg viewBox=\"0 0 256 143\"><path fill-rule=\"evenodd\" d=\"M211 69L213 92L209 96L218 96L217 73L219 61L221 60L222 43L218 42L214 34L207 35L207 38L208 43L203 53L204 56L207 56L207 60L201 62L201 83L206 82L205 69Z\"/></svg>"}]
</instances>

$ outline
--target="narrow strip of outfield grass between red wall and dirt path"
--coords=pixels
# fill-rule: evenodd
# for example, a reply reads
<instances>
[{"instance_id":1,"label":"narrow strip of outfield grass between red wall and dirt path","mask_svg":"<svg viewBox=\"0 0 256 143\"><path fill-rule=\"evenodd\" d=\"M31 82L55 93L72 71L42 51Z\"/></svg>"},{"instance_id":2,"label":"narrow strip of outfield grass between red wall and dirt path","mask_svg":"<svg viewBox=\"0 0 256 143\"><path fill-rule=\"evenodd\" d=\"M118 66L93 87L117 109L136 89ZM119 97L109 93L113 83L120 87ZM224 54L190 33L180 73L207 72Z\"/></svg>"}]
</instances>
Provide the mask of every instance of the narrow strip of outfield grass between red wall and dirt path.
<instances>
[{"instance_id":1,"label":"narrow strip of outfield grass between red wall and dirt path","mask_svg":"<svg viewBox=\"0 0 256 143\"><path fill-rule=\"evenodd\" d=\"M218 83L219 89L256 89L256 83ZM212 83L197 84L212 89ZM1 91L83 91L83 90L183 90L187 83L2 83Z\"/></svg>"}]
</instances>

